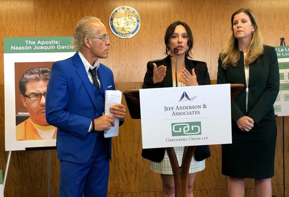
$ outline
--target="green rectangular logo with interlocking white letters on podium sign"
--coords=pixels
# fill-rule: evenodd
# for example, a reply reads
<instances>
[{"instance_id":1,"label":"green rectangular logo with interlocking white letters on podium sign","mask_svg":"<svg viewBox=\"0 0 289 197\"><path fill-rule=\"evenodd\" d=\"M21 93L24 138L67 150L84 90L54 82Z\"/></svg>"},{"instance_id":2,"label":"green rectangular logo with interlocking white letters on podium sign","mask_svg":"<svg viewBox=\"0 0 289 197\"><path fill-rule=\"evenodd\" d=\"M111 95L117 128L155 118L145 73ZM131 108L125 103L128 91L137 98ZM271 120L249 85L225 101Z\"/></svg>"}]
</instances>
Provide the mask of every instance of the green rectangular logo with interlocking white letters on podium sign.
<instances>
[{"instance_id":1,"label":"green rectangular logo with interlocking white letters on podium sign","mask_svg":"<svg viewBox=\"0 0 289 197\"><path fill-rule=\"evenodd\" d=\"M172 123L172 136L201 135L201 121Z\"/></svg>"}]
</instances>

